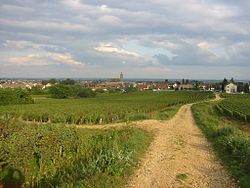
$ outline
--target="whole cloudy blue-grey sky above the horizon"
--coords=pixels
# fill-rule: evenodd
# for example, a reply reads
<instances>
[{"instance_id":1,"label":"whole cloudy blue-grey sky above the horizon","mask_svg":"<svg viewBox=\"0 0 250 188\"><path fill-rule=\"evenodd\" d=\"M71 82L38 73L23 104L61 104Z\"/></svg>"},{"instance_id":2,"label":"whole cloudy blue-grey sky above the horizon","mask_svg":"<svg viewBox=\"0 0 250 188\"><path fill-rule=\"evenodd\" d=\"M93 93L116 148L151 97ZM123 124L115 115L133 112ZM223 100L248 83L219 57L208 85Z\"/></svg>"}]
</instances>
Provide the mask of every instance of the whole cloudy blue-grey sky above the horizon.
<instances>
[{"instance_id":1,"label":"whole cloudy blue-grey sky above the horizon","mask_svg":"<svg viewBox=\"0 0 250 188\"><path fill-rule=\"evenodd\" d=\"M249 0L0 0L0 77L250 80Z\"/></svg>"}]
</instances>

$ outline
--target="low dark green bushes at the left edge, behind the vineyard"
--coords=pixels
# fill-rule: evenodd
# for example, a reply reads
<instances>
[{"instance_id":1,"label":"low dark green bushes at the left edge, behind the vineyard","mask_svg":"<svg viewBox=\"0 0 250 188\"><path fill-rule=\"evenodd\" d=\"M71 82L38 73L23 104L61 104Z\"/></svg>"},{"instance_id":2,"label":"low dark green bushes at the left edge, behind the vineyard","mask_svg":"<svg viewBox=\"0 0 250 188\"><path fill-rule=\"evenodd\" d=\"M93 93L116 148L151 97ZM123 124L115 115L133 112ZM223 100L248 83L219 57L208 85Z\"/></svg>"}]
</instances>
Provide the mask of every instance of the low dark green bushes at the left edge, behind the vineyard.
<instances>
[{"instance_id":1,"label":"low dark green bushes at the left edge, behind the vineyard","mask_svg":"<svg viewBox=\"0 0 250 188\"><path fill-rule=\"evenodd\" d=\"M0 105L34 103L30 94L23 89L0 89Z\"/></svg>"}]
</instances>

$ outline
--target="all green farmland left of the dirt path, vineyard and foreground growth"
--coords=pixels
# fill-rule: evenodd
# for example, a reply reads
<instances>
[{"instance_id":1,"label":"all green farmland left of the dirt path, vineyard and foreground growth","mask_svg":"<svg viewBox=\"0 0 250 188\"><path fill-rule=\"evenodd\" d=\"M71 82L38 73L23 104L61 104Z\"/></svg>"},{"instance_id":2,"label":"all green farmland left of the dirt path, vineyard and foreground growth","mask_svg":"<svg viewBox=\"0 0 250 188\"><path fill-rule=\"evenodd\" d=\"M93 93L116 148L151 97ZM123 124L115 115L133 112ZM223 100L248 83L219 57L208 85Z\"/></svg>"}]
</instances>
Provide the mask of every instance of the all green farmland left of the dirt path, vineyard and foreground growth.
<instances>
[{"instance_id":1,"label":"all green farmland left of the dirt path, vineyard and foreground growth","mask_svg":"<svg viewBox=\"0 0 250 188\"><path fill-rule=\"evenodd\" d=\"M0 182L24 187L123 185L153 133L129 126L88 130L65 124L168 119L182 104L213 97L208 92L104 93L84 99L36 96L34 104L2 105Z\"/></svg>"}]
</instances>

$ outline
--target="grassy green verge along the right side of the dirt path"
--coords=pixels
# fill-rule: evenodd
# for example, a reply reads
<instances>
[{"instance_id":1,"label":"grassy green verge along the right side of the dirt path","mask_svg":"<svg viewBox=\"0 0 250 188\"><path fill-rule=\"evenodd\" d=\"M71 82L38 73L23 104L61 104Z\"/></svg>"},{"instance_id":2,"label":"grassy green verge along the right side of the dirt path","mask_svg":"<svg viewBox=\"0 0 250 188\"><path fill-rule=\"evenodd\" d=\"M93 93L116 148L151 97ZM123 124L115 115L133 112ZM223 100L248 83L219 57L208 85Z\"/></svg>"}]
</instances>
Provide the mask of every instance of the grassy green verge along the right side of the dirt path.
<instances>
[{"instance_id":1,"label":"grassy green verge along the right side of the dirt path","mask_svg":"<svg viewBox=\"0 0 250 188\"><path fill-rule=\"evenodd\" d=\"M240 122L221 116L217 103L193 105L195 121L239 185L250 187L250 138L238 128Z\"/></svg>"}]
</instances>

